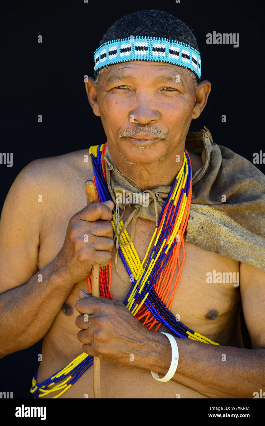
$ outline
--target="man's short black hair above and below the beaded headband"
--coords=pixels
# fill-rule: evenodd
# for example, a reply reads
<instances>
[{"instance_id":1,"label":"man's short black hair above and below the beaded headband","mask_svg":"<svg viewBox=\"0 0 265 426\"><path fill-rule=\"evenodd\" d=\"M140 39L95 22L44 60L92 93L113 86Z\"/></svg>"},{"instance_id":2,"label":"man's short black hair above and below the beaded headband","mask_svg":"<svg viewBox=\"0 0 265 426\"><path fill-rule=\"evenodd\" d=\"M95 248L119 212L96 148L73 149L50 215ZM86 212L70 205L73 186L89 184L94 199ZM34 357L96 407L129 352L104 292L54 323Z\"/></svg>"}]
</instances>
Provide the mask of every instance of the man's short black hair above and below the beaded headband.
<instances>
[{"instance_id":1,"label":"man's short black hair above and below the beaded headband","mask_svg":"<svg viewBox=\"0 0 265 426\"><path fill-rule=\"evenodd\" d=\"M118 19L107 29L97 47L110 40L127 38L131 35L135 37L137 35L149 35L150 37L164 37L169 40L178 40L189 44L199 52L196 37L193 35L191 29L176 16L157 9L140 10ZM95 73L96 80L98 80L99 71ZM197 75L193 71L189 71L194 75L195 82L199 83Z\"/></svg>"}]
</instances>

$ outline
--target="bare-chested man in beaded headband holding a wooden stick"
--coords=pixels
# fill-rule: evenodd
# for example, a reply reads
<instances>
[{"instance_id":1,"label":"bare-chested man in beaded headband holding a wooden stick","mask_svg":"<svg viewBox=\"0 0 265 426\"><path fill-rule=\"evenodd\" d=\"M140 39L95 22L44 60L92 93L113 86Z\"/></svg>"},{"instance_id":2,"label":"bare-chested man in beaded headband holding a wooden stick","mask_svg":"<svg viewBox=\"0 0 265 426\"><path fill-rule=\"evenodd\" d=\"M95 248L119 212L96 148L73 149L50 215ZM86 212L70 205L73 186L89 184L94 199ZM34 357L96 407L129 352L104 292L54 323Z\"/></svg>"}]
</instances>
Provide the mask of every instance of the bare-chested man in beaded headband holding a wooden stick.
<instances>
[{"instance_id":1,"label":"bare-chested man in beaded headband holding a wooden stick","mask_svg":"<svg viewBox=\"0 0 265 426\"><path fill-rule=\"evenodd\" d=\"M253 398L265 389L265 177L214 145L208 130L187 134L205 108L210 82L200 81L196 39L180 20L160 11L118 20L95 52L95 70L86 91L107 145L96 141L91 156L81 150L33 161L3 207L1 355L43 338L32 386L43 398L93 397L86 354L101 358L103 398ZM84 182L93 178L102 202L86 206ZM181 179L177 198L170 188ZM148 205L118 201L123 191L150 194ZM147 250L155 250L152 236L161 229L176 256L161 264L157 252L148 270ZM91 296L87 281L94 264L101 265L101 294L107 292L100 299ZM136 287L148 280L154 285L144 287L143 302ZM139 315L140 305L146 316ZM241 305L251 349L242 341ZM75 380L54 377L65 366Z\"/></svg>"}]
</instances>

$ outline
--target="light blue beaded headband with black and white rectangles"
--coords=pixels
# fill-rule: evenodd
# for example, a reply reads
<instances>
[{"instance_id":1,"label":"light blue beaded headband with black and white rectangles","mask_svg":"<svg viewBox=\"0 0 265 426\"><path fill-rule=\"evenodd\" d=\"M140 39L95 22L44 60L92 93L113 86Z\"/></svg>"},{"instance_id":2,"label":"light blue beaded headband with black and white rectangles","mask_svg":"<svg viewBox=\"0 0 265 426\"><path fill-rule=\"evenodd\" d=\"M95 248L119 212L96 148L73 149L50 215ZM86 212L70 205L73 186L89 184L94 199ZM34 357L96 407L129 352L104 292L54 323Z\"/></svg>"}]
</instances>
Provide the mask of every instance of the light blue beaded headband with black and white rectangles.
<instances>
[{"instance_id":1,"label":"light blue beaded headband with black and white rectangles","mask_svg":"<svg viewBox=\"0 0 265 426\"><path fill-rule=\"evenodd\" d=\"M104 66L132 60L152 60L182 66L201 78L199 52L181 41L160 37L131 36L103 43L94 52L95 72Z\"/></svg>"}]
</instances>

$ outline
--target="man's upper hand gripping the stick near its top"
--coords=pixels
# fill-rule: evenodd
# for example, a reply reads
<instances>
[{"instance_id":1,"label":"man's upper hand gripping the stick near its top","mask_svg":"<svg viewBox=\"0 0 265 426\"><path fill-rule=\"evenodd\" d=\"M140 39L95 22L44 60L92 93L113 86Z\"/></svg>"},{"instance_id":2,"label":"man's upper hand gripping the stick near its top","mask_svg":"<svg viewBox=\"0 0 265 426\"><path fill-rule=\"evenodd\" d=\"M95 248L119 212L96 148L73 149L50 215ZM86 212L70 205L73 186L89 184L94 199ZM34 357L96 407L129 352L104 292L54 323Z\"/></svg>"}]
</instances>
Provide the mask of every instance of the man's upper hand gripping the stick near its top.
<instances>
[{"instance_id":1,"label":"man's upper hand gripping the stick near its top","mask_svg":"<svg viewBox=\"0 0 265 426\"><path fill-rule=\"evenodd\" d=\"M113 247L113 201L91 203L69 220L63 247L53 261L53 270L63 281L87 279L92 266L111 261Z\"/></svg>"}]
</instances>

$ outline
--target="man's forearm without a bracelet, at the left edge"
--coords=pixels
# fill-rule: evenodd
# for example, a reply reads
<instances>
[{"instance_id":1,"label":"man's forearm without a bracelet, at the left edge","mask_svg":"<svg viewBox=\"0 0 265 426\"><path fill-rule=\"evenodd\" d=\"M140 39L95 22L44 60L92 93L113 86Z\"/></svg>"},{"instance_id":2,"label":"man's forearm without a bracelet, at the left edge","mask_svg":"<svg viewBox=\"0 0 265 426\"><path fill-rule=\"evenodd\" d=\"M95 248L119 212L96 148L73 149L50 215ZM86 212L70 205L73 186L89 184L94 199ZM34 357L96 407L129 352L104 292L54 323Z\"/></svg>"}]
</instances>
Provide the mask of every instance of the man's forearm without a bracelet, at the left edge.
<instances>
[{"instance_id":1,"label":"man's forearm without a bracelet, at the left edge","mask_svg":"<svg viewBox=\"0 0 265 426\"><path fill-rule=\"evenodd\" d=\"M0 357L45 336L73 286L51 262L26 284L0 294Z\"/></svg>"}]
</instances>

